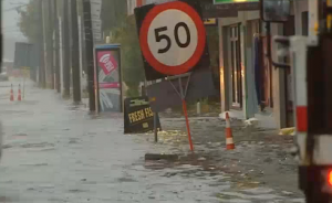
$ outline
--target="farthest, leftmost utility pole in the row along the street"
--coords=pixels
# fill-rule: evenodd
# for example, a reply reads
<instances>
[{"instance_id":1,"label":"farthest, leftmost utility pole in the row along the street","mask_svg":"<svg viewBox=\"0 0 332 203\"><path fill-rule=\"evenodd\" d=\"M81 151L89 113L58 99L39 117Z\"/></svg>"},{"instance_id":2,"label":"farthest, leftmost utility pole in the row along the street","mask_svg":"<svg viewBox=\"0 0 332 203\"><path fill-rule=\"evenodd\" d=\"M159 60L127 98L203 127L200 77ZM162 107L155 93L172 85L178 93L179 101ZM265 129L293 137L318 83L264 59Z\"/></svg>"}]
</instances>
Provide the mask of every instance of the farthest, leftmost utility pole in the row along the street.
<instances>
[{"instance_id":1,"label":"farthest, leftmost utility pole in the row along the street","mask_svg":"<svg viewBox=\"0 0 332 203\"><path fill-rule=\"evenodd\" d=\"M43 24L43 0L39 0L39 52L40 52L40 65L39 65L39 82L42 88L46 87L45 84L45 56L44 56L44 24Z\"/></svg>"}]
</instances>

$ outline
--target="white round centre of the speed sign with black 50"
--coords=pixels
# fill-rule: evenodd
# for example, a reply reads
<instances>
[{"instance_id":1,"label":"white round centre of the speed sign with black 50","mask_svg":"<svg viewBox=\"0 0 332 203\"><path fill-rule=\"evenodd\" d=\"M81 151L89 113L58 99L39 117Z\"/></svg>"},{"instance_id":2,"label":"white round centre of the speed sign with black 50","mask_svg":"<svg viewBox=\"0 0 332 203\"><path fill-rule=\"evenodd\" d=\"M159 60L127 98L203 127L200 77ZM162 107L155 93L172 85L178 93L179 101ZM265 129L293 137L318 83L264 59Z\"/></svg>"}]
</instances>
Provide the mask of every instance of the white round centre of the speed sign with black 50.
<instances>
[{"instance_id":1,"label":"white round centre of the speed sign with black 50","mask_svg":"<svg viewBox=\"0 0 332 203\"><path fill-rule=\"evenodd\" d=\"M198 31L194 20L184 11L169 9L152 21L147 43L153 56L167 66L178 66L194 55Z\"/></svg>"}]
</instances>

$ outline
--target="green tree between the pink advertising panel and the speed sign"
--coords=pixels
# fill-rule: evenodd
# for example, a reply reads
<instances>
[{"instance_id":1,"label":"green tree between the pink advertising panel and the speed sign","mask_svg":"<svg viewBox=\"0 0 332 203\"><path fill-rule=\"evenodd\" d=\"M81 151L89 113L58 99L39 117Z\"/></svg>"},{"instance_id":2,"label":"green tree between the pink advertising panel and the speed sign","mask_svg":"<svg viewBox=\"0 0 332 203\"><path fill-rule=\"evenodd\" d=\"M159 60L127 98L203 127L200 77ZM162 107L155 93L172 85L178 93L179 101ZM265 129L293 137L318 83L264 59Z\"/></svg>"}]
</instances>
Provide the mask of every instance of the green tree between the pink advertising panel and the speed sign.
<instances>
[{"instance_id":1,"label":"green tree between the pink advertising panel and the speed sign","mask_svg":"<svg viewBox=\"0 0 332 203\"><path fill-rule=\"evenodd\" d=\"M135 17L127 17L127 1L103 0L103 32L112 32L111 42L121 44L123 79L128 87L127 96L138 96L144 81L144 67Z\"/></svg>"}]
</instances>

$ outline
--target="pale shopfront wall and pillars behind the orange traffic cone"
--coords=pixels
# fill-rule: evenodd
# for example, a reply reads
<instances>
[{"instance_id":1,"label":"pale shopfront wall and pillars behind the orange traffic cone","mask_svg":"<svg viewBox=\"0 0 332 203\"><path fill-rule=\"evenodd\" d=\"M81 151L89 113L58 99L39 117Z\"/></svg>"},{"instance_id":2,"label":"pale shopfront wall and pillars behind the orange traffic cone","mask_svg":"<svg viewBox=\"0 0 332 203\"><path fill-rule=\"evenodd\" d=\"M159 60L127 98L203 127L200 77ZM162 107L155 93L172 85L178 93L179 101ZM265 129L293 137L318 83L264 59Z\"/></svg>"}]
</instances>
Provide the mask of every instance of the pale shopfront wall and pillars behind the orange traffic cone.
<instances>
[{"instance_id":1,"label":"pale shopfront wall and pillars behind the orange traffic cone","mask_svg":"<svg viewBox=\"0 0 332 203\"><path fill-rule=\"evenodd\" d=\"M267 114L261 117L259 114L258 100L255 86L255 52L253 52L253 34L257 30L256 22L260 19L259 11L240 11L238 18L219 19L220 35L220 93L221 93L221 111L231 110L231 74L230 74L230 45L229 45L229 25L241 23L241 71L242 71L242 109L236 110L237 117L248 119L260 117L263 127L281 128L286 124L286 99L284 99L284 73L283 70L272 68L272 100L273 108L267 108ZM264 28L263 24L261 24ZM272 24L271 34L282 34L282 25ZM276 60L276 49L272 47L272 55ZM232 110L235 111L235 110Z\"/></svg>"}]
</instances>

